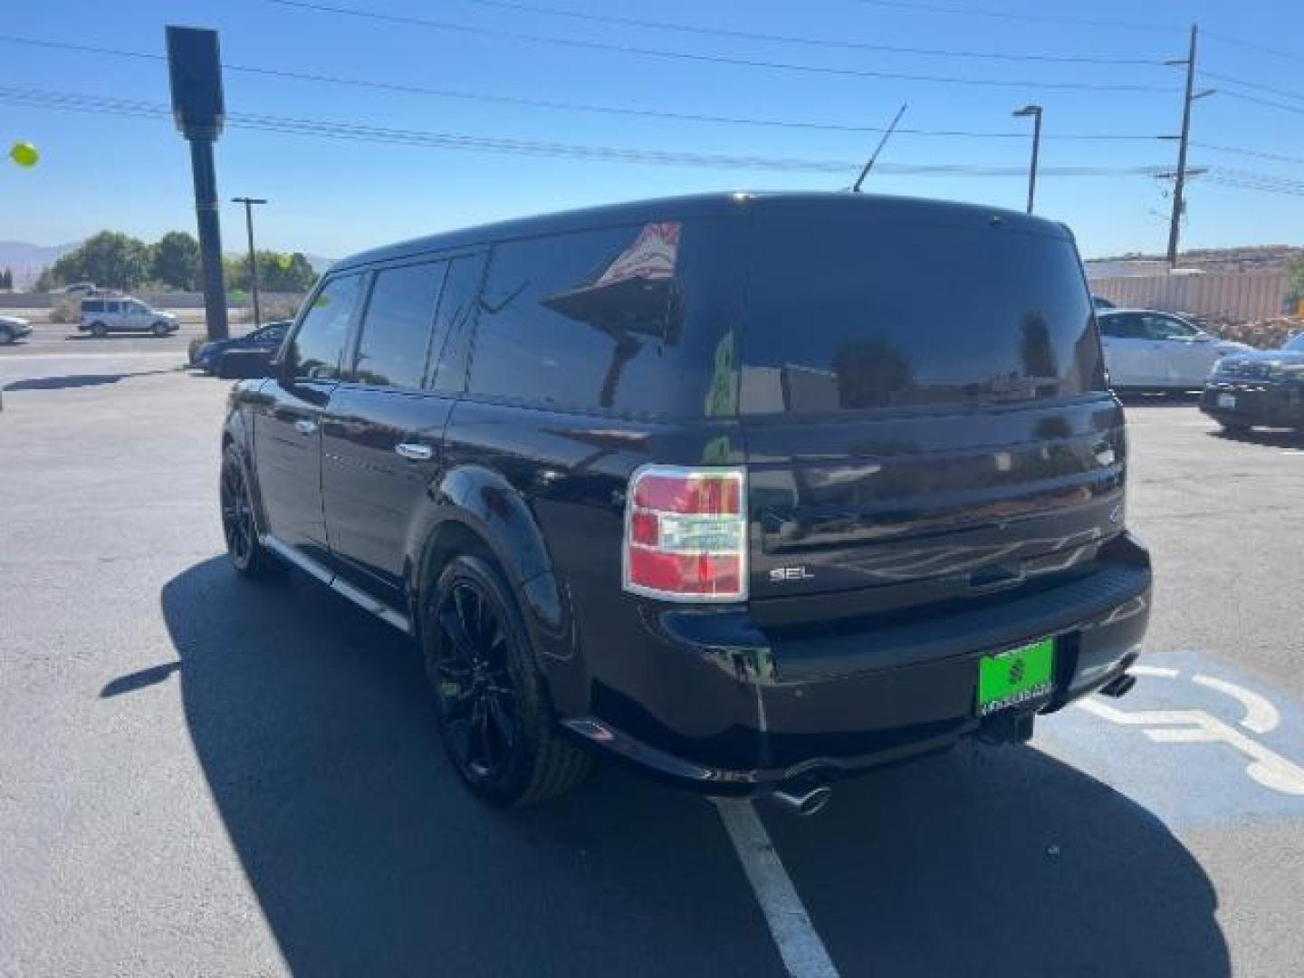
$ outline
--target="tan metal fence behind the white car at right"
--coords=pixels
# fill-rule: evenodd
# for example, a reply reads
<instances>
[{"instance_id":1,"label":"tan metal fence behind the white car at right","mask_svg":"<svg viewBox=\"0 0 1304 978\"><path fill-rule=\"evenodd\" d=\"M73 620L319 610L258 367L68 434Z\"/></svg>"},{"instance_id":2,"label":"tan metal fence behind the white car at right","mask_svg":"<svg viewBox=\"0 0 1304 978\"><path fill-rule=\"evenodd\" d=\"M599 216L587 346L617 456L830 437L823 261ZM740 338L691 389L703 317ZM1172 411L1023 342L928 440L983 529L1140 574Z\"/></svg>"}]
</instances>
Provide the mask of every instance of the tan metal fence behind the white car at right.
<instances>
[{"instance_id":1,"label":"tan metal fence behind the white car at right","mask_svg":"<svg viewBox=\"0 0 1304 978\"><path fill-rule=\"evenodd\" d=\"M1204 273L1091 279L1091 292L1138 309L1198 313L1231 321L1281 316L1284 271Z\"/></svg>"}]
</instances>

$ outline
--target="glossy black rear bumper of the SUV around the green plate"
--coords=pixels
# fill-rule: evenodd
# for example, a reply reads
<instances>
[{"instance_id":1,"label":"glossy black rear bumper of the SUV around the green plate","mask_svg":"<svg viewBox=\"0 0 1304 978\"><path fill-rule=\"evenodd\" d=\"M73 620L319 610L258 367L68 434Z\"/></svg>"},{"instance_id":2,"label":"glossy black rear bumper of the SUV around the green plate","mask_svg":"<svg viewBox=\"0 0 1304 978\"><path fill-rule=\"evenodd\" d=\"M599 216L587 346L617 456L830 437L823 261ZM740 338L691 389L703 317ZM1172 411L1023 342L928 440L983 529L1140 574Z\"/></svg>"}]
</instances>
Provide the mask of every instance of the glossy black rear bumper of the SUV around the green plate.
<instances>
[{"instance_id":1,"label":"glossy black rear bumper of the SUV around the green plate","mask_svg":"<svg viewBox=\"0 0 1304 978\"><path fill-rule=\"evenodd\" d=\"M880 615L823 632L762 631L746 609L644 604L621 647L623 691L595 683L585 741L708 794L758 794L797 781L945 750L979 732L978 662L1056 639L1050 713L1121 674L1150 614L1150 562L1131 536L1097 569L1000 601ZM996 715L1000 716L1000 715ZM1008 720L1008 716L1004 717Z\"/></svg>"}]
</instances>

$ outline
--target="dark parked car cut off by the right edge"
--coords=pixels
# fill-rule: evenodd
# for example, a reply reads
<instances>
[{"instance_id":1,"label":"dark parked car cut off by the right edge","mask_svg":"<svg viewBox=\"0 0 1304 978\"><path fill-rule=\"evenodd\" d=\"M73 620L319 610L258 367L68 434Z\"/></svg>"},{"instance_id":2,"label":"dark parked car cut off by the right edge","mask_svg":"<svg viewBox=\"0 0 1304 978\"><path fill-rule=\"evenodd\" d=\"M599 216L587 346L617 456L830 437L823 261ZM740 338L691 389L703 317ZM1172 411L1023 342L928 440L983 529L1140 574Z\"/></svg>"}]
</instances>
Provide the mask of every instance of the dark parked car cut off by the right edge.
<instances>
[{"instance_id":1,"label":"dark parked car cut off by the right edge","mask_svg":"<svg viewBox=\"0 0 1304 978\"><path fill-rule=\"evenodd\" d=\"M1304 430L1304 333L1281 349L1219 360L1200 395L1200 409L1228 432L1254 425Z\"/></svg>"}]
</instances>

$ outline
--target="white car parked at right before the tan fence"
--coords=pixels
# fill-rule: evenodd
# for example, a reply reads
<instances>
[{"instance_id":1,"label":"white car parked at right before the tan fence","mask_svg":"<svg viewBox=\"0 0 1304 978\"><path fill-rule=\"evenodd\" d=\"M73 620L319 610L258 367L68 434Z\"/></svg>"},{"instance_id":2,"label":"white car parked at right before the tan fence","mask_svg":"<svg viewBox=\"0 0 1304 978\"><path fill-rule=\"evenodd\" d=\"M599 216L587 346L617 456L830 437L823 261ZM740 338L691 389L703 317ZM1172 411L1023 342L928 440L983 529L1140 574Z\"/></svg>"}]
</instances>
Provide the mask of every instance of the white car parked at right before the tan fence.
<instances>
[{"instance_id":1,"label":"white car parked at right before the tan fence","mask_svg":"<svg viewBox=\"0 0 1304 978\"><path fill-rule=\"evenodd\" d=\"M1200 390L1222 357L1253 349L1218 339L1172 313L1097 309L1095 319L1115 390Z\"/></svg>"}]
</instances>

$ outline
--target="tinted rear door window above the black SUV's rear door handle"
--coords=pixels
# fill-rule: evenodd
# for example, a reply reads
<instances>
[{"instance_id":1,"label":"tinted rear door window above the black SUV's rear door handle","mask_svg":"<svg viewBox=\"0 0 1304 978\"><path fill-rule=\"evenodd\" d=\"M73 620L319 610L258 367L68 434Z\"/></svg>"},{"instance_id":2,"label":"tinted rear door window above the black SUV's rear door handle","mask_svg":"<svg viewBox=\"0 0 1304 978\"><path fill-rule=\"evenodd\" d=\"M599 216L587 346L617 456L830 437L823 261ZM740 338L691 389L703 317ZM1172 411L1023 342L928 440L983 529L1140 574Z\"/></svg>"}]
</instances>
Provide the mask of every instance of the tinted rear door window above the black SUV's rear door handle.
<instances>
[{"instance_id":1,"label":"tinted rear door window above the black SUV's rear door handle","mask_svg":"<svg viewBox=\"0 0 1304 978\"><path fill-rule=\"evenodd\" d=\"M421 386L434 304L447 267L447 262L422 262L376 273L351 379L386 387Z\"/></svg>"}]
</instances>

